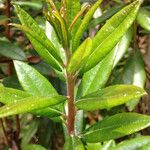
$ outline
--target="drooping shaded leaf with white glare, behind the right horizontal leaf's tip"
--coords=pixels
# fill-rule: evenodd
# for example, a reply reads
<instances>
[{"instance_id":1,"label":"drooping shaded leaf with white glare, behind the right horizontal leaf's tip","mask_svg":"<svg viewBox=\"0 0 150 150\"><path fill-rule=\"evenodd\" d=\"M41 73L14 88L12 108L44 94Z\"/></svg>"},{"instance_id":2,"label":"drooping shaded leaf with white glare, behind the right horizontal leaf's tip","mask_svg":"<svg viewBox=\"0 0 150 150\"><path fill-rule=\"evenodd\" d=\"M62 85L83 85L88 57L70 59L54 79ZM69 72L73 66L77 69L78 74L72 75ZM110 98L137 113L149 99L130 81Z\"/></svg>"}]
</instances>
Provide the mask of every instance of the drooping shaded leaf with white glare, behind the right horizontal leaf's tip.
<instances>
[{"instance_id":1,"label":"drooping shaded leaf with white glare, behind the right horizontal leaf's tip","mask_svg":"<svg viewBox=\"0 0 150 150\"><path fill-rule=\"evenodd\" d=\"M141 88L145 87L146 72L144 67L144 61L141 57L139 50L135 50L134 53L131 54L131 56L127 60L123 72L119 74L120 75L116 78L116 80L119 79L119 81L115 81L117 82L117 84L133 84ZM126 104L129 111L135 109L139 100L139 98L133 99Z\"/></svg>"}]
</instances>

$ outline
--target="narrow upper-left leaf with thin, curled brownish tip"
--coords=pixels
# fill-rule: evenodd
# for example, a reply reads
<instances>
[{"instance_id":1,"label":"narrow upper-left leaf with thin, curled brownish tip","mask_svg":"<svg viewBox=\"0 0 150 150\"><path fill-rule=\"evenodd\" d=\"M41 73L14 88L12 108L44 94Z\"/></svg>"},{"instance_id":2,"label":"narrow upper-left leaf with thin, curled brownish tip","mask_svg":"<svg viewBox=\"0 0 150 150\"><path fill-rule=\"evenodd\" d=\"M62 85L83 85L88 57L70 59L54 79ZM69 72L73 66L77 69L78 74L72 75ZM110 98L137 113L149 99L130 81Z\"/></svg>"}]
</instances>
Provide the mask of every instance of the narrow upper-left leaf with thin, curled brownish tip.
<instances>
[{"instance_id":1,"label":"narrow upper-left leaf with thin, curled brownish tip","mask_svg":"<svg viewBox=\"0 0 150 150\"><path fill-rule=\"evenodd\" d=\"M21 30L23 30L24 32L28 33L28 38L30 39L32 45L34 46L35 50L37 51L37 53L53 68L61 71L62 70L62 66L59 64L59 62L49 53L49 51L47 50L47 48L45 47L44 44L46 44L46 42L43 41L43 43L41 43L41 40L38 38L38 36L36 34L34 34L33 31L31 31L28 27L23 26L23 25L19 25L19 24L11 24L12 26L15 26Z\"/></svg>"}]
</instances>

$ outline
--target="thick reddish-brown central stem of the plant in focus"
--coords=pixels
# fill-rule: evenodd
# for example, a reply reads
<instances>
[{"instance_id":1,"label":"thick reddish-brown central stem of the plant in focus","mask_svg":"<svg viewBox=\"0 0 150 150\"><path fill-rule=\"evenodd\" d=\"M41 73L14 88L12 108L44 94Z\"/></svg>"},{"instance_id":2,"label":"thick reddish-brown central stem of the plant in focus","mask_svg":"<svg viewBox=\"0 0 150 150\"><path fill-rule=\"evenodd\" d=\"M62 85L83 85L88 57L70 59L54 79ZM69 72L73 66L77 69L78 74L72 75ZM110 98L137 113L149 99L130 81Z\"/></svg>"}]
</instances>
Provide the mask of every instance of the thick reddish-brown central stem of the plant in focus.
<instances>
[{"instance_id":1,"label":"thick reddish-brown central stem of the plant in focus","mask_svg":"<svg viewBox=\"0 0 150 150\"><path fill-rule=\"evenodd\" d=\"M67 97L68 97L68 116L67 116L67 129L69 135L74 135L74 122L76 109L74 105L74 76L67 74Z\"/></svg>"}]
</instances>

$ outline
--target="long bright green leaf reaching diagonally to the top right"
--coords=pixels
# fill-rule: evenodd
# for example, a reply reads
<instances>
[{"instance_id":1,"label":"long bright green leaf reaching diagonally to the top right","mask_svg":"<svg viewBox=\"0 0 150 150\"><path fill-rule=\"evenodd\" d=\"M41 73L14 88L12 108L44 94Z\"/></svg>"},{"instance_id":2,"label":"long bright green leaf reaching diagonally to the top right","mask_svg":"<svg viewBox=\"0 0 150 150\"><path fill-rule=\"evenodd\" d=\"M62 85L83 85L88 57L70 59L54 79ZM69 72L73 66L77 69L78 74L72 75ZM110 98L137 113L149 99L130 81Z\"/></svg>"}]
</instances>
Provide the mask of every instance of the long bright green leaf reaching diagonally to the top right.
<instances>
[{"instance_id":1,"label":"long bright green leaf reaching diagonally to the top right","mask_svg":"<svg viewBox=\"0 0 150 150\"><path fill-rule=\"evenodd\" d=\"M115 47L121 37L132 25L140 4L141 0L137 0L126 6L110 18L101 28L93 38L93 53L89 56L82 72L86 72L93 68Z\"/></svg>"}]
</instances>

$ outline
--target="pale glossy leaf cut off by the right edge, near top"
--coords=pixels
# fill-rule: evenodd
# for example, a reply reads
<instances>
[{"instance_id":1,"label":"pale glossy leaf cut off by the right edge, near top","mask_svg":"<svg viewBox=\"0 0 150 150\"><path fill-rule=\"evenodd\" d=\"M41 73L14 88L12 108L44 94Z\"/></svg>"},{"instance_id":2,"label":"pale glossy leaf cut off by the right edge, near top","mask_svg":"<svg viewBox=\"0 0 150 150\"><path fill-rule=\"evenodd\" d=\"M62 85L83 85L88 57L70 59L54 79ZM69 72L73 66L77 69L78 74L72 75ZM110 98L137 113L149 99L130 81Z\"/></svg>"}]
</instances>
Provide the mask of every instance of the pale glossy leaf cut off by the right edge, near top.
<instances>
[{"instance_id":1,"label":"pale glossy leaf cut off by the right edge, near top","mask_svg":"<svg viewBox=\"0 0 150 150\"><path fill-rule=\"evenodd\" d=\"M150 11L145 8L141 8L137 15L137 22L141 27L150 31Z\"/></svg>"}]
</instances>

